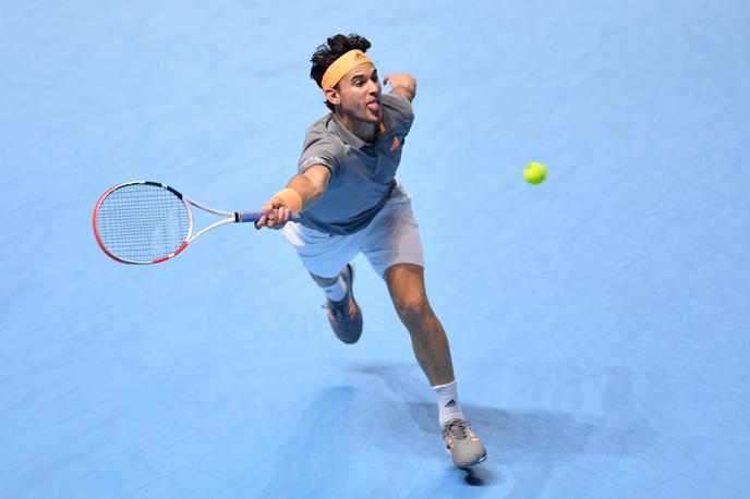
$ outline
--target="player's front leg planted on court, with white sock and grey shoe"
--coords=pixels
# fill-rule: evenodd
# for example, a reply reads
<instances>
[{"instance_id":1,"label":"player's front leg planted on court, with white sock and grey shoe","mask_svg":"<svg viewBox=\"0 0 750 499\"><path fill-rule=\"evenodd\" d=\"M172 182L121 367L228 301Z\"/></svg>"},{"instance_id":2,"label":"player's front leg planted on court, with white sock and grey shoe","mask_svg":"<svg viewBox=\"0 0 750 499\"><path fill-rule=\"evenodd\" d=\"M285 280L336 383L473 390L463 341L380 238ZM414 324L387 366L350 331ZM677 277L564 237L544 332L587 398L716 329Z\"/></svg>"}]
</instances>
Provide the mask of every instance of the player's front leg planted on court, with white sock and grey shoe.
<instances>
[{"instance_id":1,"label":"player's front leg planted on court, with white sock and grey shoe","mask_svg":"<svg viewBox=\"0 0 750 499\"><path fill-rule=\"evenodd\" d=\"M453 464L465 467L484 461L484 445L461 411L448 339L427 300L424 269L414 264L396 264L386 269L384 277L396 312L411 334L416 361L437 397L443 437Z\"/></svg>"}]
</instances>

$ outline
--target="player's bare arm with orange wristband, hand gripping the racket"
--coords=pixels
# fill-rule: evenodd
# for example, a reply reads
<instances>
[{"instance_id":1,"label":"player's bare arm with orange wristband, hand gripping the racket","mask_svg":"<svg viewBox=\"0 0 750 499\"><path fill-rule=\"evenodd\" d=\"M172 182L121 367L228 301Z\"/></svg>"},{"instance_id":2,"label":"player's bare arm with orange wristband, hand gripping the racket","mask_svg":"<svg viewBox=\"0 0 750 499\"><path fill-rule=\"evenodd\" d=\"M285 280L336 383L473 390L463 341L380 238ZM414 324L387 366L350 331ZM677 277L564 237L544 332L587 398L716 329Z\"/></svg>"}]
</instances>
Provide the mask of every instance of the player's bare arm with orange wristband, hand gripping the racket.
<instances>
[{"instance_id":1,"label":"player's bare arm with orange wristband, hand gripping the racket","mask_svg":"<svg viewBox=\"0 0 750 499\"><path fill-rule=\"evenodd\" d=\"M313 206L328 188L330 170L323 165L313 165L304 173L292 177L287 186L276 193L261 208L266 215L255 222L261 229L281 229L291 217ZM299 197L298 197L299 196Z\"/></svg>"}]
</instances>

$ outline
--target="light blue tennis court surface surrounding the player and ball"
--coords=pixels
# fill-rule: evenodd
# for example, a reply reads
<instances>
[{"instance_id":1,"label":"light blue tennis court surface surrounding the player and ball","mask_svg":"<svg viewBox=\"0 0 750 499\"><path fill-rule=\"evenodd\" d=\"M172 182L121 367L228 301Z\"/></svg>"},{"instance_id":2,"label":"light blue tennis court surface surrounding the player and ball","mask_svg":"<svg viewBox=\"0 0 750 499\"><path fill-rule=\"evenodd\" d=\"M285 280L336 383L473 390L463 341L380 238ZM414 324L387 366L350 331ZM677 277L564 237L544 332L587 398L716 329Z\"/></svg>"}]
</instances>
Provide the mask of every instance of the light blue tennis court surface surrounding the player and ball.
<instances>
[{"instance_id":1,"label":"light blue tennis court surface surrounding the player and ball","mask_svg":"<svg viewBox=\"0 0 750 499\"><path fill-rule=\"evenodd\" d=\"M419 80L399 179L470 473L364 258L346 345L279 232L93 236L128 180L258 208L350 32ZM747 0L3 1L0 498L748 497L749 75Z\"/></svg>"}]
</instances>

